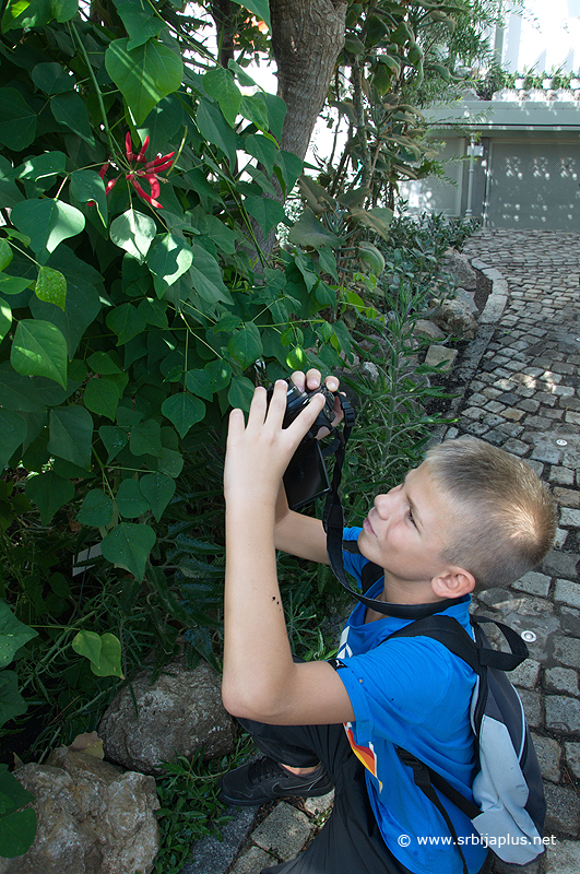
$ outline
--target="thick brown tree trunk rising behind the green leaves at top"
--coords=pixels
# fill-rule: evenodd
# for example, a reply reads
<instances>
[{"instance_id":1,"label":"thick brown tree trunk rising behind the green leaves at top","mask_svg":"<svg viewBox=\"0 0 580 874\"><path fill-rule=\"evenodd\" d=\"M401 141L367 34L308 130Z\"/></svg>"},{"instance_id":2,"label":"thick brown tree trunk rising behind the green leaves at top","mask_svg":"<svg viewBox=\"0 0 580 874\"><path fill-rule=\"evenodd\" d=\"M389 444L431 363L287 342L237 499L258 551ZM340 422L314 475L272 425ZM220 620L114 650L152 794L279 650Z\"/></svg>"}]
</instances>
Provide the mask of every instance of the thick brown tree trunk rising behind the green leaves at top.
<instances>
[{"instance_id":1,"label":"thick brown tree trunk rising behind the green leaves at top","mask_svg":"<svg viewBox=\"0 0 580 874\"><path fill-rule=\"evenodd\" d=\"M344 45L345 0L270 0L277 96L287 106L281 147L304 158Z\"/></svg>"}]
</instances>

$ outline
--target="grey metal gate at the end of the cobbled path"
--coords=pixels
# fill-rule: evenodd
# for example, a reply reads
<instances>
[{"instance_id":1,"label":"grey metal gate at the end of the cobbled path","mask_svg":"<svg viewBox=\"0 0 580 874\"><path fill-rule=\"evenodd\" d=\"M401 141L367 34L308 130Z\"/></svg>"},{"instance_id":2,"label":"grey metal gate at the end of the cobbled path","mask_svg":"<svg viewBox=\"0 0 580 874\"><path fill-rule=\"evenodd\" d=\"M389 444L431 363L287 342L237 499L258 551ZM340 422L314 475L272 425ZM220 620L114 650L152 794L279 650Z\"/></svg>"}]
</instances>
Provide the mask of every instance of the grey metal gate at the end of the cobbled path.
<instances>
[{"instance_id":1,"label":"grey metal gate at the end of the cobbled path","mask_svg":"<svg viewBox=\"0 0 580 874\"><path fill-rule=\"evenodd\" d=\"M580 229L580 143L493 141L487 227Z\"/></svg>"}]
</instances>

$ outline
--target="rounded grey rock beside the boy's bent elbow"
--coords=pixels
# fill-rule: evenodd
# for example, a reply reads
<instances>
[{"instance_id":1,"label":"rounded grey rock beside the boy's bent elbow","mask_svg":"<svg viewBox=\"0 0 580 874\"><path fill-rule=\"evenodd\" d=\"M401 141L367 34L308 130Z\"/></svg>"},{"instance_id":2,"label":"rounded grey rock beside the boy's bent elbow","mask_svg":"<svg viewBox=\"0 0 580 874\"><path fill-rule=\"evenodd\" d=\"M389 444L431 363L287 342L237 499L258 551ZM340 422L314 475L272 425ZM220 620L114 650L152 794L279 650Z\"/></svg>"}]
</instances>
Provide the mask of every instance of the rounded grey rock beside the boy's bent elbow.
<instances>
[{"instance_id":1,"label":"rounded grey rock beside the boy's bent elbow","mask_svg":"<svg viewBox=\"0 0 580 874\"><path fill-rule=\"evenodd\" d=\"M162 763L176 756L191 758L203 746L205 758L216 758L234 744L220 677L205 662L187 670L182 657L153 684L151 673L140 671L117 693L98 733L107 758L153 775L163 773Z\"/></svg>"}]
</instances>

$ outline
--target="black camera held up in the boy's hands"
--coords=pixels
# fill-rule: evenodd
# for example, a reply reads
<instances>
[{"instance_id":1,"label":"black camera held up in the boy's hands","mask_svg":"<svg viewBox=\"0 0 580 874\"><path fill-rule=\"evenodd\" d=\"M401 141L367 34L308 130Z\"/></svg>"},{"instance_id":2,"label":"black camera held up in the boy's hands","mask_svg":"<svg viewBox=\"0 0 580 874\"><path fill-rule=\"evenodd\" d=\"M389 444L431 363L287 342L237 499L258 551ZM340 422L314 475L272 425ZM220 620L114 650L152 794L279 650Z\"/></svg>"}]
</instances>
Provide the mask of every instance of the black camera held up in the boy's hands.
<instances>
[{"instance_id":1,"label":"black camera held up in the boy's hands","mask_svg":"<svg viewBox=\"0 0 580 874\"><path fill-rule=\"evenodd\" d=\"M321 428L333 429L335 395L325 386L320 386L313 391L300 391L292 380L287 379L286 382L288 388L286 392L286 412L282 422L283 428L287 428L294 422L305 406L310 403L311 398L316 394L324 395L324 406L300 441L283 477L288 506L291 510L298 510L300 507L330 492L327 466L320 442L316 437ZM273 387L268 390L269 402L272 392Z\"/></svg>"}]
</instances>

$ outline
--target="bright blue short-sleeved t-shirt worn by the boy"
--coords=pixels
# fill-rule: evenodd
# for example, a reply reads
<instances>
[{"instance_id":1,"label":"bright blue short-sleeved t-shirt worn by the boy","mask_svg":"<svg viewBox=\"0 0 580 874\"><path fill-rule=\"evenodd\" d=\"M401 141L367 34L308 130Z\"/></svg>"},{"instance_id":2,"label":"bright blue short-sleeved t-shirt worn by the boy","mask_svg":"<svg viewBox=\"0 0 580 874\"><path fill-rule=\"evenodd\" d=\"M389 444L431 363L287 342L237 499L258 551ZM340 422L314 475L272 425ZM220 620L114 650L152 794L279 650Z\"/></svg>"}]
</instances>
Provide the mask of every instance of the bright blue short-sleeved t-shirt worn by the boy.
<instances>
[{"instance_id":1,"label":"bright blue short-sleeved t-shirt worn by the boy","mask_svg":"<svg viewBox=\"0 0 580 874\"><path fill-rule=\"evenodd\" d=\"M362 529L345 529L357 540ZM345 570L360 582L367 559L344 553ZM367 592L377 598L383 581ZM446 611L471 634L466 595ZM380 646L409 619L386 616L365 625L358 604L344 628L338 675L344 683L355 721L345 730L366 767L367 789L389 850L417 874L461 874L462 860L442 816L415 786L412 768L396 754L401 746L441 773L470 801L474 769L470 701L475 674L447 647L428 637L398 638ZM467 816L439 793L462 843L470 873L487 854ZM439 841L436 839L439 838Z\"/></svg>"}]
</instances>

